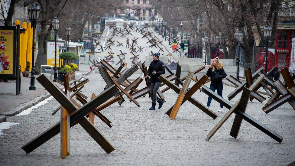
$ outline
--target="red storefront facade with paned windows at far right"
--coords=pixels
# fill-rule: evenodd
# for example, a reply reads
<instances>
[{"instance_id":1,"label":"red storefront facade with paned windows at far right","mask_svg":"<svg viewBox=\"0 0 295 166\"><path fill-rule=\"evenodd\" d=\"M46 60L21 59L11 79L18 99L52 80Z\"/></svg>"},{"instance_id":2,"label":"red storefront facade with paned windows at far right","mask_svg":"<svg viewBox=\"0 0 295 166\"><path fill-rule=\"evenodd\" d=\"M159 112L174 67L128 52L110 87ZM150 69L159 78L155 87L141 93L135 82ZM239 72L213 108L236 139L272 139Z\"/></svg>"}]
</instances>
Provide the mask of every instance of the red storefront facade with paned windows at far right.
<instances>
[{"instance_id":1,"label":"red storefront facade with paned windows at far right","mask_svg":"<svg viewBox=\"0 0 295 166\"><path fill-rule=\"evenodd\" d=\"M276 67L282 69L290 66L290 54L292 38L295 37L295 30L277 30L276 37Z\"/></svg>"}]
</instances>

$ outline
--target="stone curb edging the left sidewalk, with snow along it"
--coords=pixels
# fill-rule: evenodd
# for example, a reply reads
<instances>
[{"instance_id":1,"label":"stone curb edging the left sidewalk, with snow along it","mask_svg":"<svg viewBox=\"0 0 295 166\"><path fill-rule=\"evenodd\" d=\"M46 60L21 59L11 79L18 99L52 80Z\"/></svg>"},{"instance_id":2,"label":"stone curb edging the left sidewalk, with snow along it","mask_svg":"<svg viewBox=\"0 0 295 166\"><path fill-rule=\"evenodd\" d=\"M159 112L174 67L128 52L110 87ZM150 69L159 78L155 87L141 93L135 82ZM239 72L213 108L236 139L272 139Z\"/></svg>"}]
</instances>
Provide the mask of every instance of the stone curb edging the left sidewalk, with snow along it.
<instances>
[{"instance_id":1,"label":"stone curb edging the left sidewalk, with snow along it","mask_svg":"<svg viewBox=\"0 0 295 166\"><path fill-rule=\"evenodd\" d=\"M80 81L82 78L83 78L83 76L80 76L80 77L78 77L76 79L76 81ZM71 81L70 84L72 84L73 82L74 82L74 80ZM19 105L15 109L12 109L12 110L10 110L8 112L2 113L1 116L0 116L0 123L5 122L6 116L15 116L15 115L21 113L22 111L24 111L24 110L26 110L26 109L28 109L28 108L30 108L32 106L35 106L36 104L40 103L41 101L47 99L50 96L51 96L51 94L49 92L47 92L44 95L37 96L35 99L33 99L33 100L29 101L29 102L22 103L21 105Z\"/></svg>"}]
</instances>

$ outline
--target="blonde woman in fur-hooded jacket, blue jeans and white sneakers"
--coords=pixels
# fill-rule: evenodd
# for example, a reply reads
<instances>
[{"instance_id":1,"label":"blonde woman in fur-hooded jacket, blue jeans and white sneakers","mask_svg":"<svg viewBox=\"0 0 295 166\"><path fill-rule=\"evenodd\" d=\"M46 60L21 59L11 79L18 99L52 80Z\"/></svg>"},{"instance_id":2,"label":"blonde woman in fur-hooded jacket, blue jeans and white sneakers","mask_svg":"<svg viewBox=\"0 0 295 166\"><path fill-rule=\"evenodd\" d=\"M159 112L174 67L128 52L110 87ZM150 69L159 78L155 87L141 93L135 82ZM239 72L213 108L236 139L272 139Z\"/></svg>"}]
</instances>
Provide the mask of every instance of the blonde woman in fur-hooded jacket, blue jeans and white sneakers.
<instances>
[{"instance_id":1,"label":"blonde woman in fur-hooded jacket, blue jeans and white sneakers","mask_svg":"<svg viewBox=\"0 0 295 166\"><path fill-rule=\"evenodd\" d=\"M219 61L219 58L216 57L212 60L210 68L208 69L206 75L211 78L210 90L215 92L217 90L217 94L222 97L222 79L226 77L226 73L223 69L222 63ZM207 107L209 108L212 97L208 97ZM220 104L220 109L218 112L223 112L223 105Z\"/></svg>"}]
</instances>

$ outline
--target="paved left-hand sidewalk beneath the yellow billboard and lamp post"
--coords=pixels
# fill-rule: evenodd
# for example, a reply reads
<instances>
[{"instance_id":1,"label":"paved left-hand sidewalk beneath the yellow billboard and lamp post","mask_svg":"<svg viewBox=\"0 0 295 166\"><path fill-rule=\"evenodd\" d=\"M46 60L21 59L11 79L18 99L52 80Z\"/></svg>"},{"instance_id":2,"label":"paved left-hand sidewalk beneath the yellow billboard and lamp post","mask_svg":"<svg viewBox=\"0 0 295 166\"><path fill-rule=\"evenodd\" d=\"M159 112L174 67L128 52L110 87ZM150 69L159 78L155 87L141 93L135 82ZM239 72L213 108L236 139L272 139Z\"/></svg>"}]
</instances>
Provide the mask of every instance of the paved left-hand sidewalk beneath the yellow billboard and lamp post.
<instances>
[{"instance_id":1,"label":"paved left-hand sidewalk beneath the yellow billboard and lamp post","mask_svg":"<svg viewBox=\"0 0 295 166\"><path fill-rule=\"evenodd\" d=\"M76 74L81 73L81 75L76 75L76 81L81 80L82 75L87 75L89 72L89 65L81 64L79 71L76 71ZM21 77L21 90L18 96L15 95L15 81L0 82L0 123L5 121L5 116L14 116L51 96L36 80L37 77L35 77L36 90L29 90L30 77ZM73 83L73 80L70 83ZM55 84L63 87L59 83Z\"/></svg>"}]
</instances>

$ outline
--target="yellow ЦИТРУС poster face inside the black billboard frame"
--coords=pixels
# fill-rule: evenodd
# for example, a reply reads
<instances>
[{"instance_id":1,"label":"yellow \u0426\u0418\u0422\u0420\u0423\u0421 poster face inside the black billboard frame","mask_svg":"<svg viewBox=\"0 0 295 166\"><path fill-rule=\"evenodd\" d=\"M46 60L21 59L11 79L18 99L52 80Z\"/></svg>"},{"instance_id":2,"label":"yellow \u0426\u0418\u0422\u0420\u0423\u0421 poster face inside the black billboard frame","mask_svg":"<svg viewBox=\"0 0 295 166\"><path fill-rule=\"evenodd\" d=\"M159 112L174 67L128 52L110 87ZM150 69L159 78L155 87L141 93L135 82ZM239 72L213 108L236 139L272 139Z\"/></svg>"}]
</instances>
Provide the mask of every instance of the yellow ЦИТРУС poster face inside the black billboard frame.
<instances>
[{"instance_id":1,"label":"yellow \u0426\u0418\u0422\u0420\u0423\u0421 poster face inside the black billboard frame","mask_svg":"<svg viewBox=\"0 0 295 166\"><path fill-rule=\"evenodd\" d=\"M14 74L14 30L0 29L0 75Z\"/></svg>"}]
</instances>

